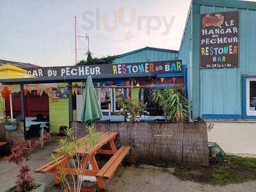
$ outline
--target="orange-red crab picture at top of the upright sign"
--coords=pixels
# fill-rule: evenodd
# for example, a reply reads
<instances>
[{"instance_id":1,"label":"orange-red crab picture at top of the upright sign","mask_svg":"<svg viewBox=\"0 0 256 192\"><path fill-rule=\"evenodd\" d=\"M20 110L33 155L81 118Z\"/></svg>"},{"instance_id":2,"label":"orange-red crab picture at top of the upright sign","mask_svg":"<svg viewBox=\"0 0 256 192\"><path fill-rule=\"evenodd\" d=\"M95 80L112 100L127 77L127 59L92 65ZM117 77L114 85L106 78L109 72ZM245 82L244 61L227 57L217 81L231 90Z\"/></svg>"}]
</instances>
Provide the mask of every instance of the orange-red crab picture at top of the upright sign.
<instances>
[{"instance_id":1,"label":"orange-red crab picture at top of the upright sign","mask_svg":"<svg viewBox=\"0 0 256 192\"><path fill-rule=\"evenodd\" d=\"M221 25L223 24L223 22L224 22L224 16L221 15L220 13L215 15L206 14L202 19L202 26L203 28L209 27L209 26L216 26L221 28Z\"/></svg>"}]
</instances>

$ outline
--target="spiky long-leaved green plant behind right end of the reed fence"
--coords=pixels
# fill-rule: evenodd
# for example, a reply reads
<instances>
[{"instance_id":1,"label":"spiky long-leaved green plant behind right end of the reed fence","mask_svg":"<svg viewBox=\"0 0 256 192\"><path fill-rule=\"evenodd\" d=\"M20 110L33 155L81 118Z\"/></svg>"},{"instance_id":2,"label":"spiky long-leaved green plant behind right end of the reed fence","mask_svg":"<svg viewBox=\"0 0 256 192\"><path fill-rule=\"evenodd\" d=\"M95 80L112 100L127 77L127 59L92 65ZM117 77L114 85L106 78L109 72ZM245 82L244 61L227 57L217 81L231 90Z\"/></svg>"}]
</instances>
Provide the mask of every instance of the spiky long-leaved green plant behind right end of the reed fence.
<instances>
[{"instance_id":1,"label":"spiky long-leaved green plant behind right end of the reed fence","mask_svg":"<svg viewBox=\"0 0 256 192\"><path fill-rule=\"evenodd\" d=\"M169 90L156 90L153 100L159 102L164 116L173 122L184 122L188 119L188 100L179 92Z\"/></svg>"}]
</instances>

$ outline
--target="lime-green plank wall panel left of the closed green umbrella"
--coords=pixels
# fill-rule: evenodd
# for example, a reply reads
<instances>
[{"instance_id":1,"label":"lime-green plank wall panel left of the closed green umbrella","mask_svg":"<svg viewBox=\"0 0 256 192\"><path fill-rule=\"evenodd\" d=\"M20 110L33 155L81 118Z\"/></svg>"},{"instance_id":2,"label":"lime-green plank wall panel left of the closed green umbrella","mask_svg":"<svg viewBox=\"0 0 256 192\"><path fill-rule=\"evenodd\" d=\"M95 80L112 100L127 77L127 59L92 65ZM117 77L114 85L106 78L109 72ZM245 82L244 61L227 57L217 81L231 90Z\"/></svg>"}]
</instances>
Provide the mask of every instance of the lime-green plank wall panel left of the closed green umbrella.
<instances>
[{"instance_id":1,"label":"lime-green plank wall panel left of the closed green umbrella","mask_svg":"<svg viewBox=\"0 0 256 192\"><path fill-rule=\"evenodd\" d=\"M49 97L49 118L51 123L51 133L59 133L61 125L69 126L68 118L68 99L58 99L58 102L52 102Z\"/></svg>"}]
</instances>

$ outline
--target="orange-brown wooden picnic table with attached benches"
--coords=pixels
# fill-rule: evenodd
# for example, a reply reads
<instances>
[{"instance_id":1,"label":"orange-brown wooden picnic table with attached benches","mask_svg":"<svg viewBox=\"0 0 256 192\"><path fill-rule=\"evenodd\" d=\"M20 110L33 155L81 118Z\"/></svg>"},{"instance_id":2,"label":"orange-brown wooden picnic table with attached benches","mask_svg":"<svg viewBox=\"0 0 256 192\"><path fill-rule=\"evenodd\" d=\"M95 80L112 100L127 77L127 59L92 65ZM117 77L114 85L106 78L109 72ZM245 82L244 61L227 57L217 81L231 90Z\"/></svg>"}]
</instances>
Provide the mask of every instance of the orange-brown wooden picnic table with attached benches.
<instances>
[{"instance_id":1,"label":"orange-brown wooden picnic table with attached benches","mask_svg":"<svg viewBox=\"0 0 256 192\"><path fill-rule=\"evenodd\" d=\"M92 149L92 153L90 155L90 163L92 164L92 170L84 170L82 175L95 176L97 179L97 183L100 189L106 189L106 185L103 179L111 179L118 168L118 166L122 163L124 157L129 154L129 150L131 147L122 146L118 150L115 147L115 138L118 134L117 132L98 132L99 141L96 143L95 147ZM83 143L84 138L76 140L78 143ZM110 149L103 149L102 147L106 144L109 144ZM60 153L61 148L57 148L53 151L53 153ZM88 155L85 148L83 146L76 149L76 153L81 156ZM109 161L99 168L97 161L95 159L96 154L109 154L113 155L109 159ZM60 184L60 173L65 172L67 174L76 175L76 170L72 168L68 168L67 164L70 157L68 156L60 156L58 157L58 163L56 161L49 161L48 163L40 166L35 170L36 173L57 173L54 184ZM85 166L85 164L84 164Z\"/></svg>"}]
</instances>

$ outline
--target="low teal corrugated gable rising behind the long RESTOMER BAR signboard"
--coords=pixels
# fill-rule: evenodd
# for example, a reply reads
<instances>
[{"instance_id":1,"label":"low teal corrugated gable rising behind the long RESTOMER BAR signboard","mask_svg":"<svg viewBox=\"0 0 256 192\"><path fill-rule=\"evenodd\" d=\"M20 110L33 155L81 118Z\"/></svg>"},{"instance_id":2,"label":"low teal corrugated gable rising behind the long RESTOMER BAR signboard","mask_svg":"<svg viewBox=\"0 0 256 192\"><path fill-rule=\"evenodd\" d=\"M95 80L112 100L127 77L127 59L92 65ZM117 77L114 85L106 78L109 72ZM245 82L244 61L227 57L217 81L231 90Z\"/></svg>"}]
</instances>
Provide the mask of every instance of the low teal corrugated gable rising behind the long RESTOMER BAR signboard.
<instances>
[{"instance_id":1,"label":"low teal corrugated gable rising behind the long RESTOMER BAR signboard","mask_svg":"<svg viewBox=\"0 0 256 192\"><path fill-rule=\"evenodd\" d=\"M116 58L113 63L135 63L135 62L147 62L147 61L166 61L177 60L178 54L167 51L155 51L144 50L140 52L134 52L120 58Z\"/></svg>"}]
</instances>

